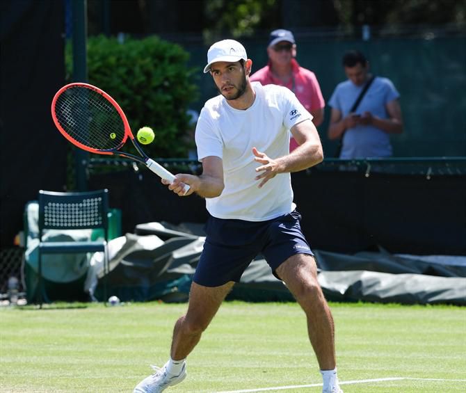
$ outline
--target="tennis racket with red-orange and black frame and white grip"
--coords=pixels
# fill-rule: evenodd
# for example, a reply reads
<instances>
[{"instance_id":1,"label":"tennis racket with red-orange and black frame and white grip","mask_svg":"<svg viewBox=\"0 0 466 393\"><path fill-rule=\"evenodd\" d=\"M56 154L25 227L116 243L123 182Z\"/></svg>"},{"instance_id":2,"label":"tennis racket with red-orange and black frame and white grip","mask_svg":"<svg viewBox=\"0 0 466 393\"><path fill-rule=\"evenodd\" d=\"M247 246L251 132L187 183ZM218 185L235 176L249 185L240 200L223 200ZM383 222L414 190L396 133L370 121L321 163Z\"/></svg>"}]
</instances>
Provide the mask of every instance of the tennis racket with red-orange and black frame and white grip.
<instances>
[{"instance_id":1,"label":"tennis racket with red-orange and black frame and white grip","mask_svg":"<svg viewBox=\"0 0 466 393\"><path fill-rule=\"evenodd\" d=\"M175 176L147 157L136 142L120 105L101 90L88 83L70 83L56 93L51 102L51 116L58 131L73 145L97 154L116 154L144 163L162 179L173 182ZM140 157L120 151L131 139ZM184 193L189 186L184 186Z\"/></svg>"}]
</instances>

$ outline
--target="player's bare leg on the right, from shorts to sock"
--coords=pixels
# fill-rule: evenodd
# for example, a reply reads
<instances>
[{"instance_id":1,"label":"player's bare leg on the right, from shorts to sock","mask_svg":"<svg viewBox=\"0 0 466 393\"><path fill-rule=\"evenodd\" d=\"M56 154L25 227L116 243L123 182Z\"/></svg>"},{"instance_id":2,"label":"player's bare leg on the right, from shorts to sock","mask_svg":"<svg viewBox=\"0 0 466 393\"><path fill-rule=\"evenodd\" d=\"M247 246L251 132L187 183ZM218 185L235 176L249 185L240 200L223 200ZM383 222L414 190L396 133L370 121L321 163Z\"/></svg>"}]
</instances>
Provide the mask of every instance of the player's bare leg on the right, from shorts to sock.
<instances>
[{"instance_id":1,"label":"player's bare leg on the right, from shorts to sock","mask_svg":"<svg viewBox=\"0 0 466 393\"><path fill-rule=\"evenodd\" d=\"M293 255L278 266L276 273L306 314L307 332L321 370L335 369L335 328L332 313L317 281L314 257Z\"/></svg>"}]
</instances>

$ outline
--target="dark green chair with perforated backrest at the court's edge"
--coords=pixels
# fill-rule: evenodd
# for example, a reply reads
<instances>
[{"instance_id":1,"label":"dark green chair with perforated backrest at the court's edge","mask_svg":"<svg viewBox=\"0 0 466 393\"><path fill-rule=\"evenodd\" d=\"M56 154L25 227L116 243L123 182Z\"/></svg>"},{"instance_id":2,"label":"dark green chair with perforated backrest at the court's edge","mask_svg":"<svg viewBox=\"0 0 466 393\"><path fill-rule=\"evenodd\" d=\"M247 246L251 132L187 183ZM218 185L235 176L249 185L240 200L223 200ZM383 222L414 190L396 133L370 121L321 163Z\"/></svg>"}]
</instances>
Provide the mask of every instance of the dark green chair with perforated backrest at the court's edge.
<instances>
[{"instance_id":1,"label":"dark green chair with perforated backrest at the court's edge","mask_svg":"<svg viewBox=\"0 0 466 393\"><path fill-rule=\"evenodd\" d=\"M45 294L42 278L42 255L61 253L104 252L104 302L107 297L109 257L109 191L61 193L39 191L38 301L42 308ZM43 241L45 230L102 229L104 239L88 241Z\"/></svg>"}]
</instances>

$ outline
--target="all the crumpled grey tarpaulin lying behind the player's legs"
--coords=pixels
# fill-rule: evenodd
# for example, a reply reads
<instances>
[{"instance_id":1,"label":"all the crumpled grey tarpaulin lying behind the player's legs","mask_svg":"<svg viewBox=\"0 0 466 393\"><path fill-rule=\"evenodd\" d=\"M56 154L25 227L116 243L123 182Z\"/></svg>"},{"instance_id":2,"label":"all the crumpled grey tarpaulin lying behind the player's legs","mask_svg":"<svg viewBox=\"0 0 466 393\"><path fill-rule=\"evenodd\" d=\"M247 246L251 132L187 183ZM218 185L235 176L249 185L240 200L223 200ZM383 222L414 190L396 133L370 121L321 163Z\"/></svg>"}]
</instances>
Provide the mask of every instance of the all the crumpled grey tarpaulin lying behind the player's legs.
<instances>
[{"instance_id":1,"label":"all the crumpled grey tarpaulin lying behind the player's legs","mask_svg":"<svg viewBox=\"0 0 466 393\"><path fill-rule=\"evenodd\" d=\"M142 250L136 240L150 234L151 227L164 243ZM126 246L111 260L112 294L122 300L187 300L204 243L200 227L187 228L183 225L183 232L166 223L148 223L127 234ZM315 252L319 282L329 300L466 305L466 257L391 255L383 249L354 255ZM293 300L260 255L228 298Z\"/></svg>"}]
</instances>

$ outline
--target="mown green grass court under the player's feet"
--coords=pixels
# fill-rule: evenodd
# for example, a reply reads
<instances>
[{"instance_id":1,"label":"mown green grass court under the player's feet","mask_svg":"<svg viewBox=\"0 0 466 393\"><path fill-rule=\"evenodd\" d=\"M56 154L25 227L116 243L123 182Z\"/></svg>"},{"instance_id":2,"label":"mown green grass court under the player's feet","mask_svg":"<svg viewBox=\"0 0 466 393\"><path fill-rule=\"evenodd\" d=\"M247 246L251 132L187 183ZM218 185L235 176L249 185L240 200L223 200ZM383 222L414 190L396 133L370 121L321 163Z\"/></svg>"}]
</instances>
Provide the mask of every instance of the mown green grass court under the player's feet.
<instances>
[{"instance_id":1,"label":"mown green grass court under the player's feet","mask_svg":"<svg viewBox=\"0 0 466 393\"><path fill-rule=\"evenodd\" d=\"M345 393L465 392L466 309L330 303ZM0 309L0 392L132 392L186 304ZM369 380L365 381L364 380ZM348 382L348 384L345 384ZM296 303L227 302L167 392L321 392Z\"/></svg>"}]
</instances>

